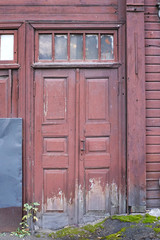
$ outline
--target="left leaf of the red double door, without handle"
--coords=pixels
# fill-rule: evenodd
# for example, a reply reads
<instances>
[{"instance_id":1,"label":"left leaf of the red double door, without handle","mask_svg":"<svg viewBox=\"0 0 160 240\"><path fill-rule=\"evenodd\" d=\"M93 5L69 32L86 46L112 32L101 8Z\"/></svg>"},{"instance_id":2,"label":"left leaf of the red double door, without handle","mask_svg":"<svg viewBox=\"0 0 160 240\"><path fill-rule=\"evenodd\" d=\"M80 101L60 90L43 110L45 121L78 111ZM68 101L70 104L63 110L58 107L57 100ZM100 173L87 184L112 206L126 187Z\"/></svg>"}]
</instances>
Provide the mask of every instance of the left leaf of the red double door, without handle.
<instances>
[{"instance_id":1,"label":"left leaf of the red double door, without handle","mask_svg":"<svg viewBox=\"0 0 160 240\"><path fill-rule=\"evenodd\" d=\"M75 72L40 70L35 84L35 199L43 227L63 227L75 221Z\"/></svg>"}]
</instances>

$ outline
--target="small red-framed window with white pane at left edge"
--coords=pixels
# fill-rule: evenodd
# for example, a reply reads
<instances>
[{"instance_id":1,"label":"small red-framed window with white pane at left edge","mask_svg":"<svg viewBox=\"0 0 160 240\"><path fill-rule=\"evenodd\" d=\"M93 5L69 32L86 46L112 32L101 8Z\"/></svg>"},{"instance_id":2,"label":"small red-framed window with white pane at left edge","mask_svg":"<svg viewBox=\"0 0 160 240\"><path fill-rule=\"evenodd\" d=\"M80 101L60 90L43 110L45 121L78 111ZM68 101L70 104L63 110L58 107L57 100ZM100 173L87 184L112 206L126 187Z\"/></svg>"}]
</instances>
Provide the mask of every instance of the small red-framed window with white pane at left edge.
<instances>
[{"instance_id":1,"label":"small red-framed window with white pane at left edge","mask_svg":"<svg viewBox=\"0 0 160 240\"><path fill-rule=\"evenodd\" d=\"M0 62L17 61L16 37L14 31L0 31Z\"/></svg>"}]
</instances>

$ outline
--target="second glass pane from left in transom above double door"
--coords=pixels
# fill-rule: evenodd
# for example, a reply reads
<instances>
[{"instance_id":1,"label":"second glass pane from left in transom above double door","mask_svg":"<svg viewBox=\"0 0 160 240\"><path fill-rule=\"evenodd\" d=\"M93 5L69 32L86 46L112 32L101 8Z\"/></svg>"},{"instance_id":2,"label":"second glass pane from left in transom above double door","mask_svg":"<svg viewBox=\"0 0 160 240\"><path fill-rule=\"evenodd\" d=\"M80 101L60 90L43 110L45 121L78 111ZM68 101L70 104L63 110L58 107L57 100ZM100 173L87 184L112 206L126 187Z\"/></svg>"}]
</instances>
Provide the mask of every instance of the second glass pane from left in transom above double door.
<instances>
[{"instance_id":1,"label":"second glass pane from left in transom above double door","mask_svg":"<svg viewBox=\"0 0 160 240\"><path fill-rule=\"evenodd\" d=\"M55 59L67 59L67 35L55 35Z\"/></svg>"}]
</instances>

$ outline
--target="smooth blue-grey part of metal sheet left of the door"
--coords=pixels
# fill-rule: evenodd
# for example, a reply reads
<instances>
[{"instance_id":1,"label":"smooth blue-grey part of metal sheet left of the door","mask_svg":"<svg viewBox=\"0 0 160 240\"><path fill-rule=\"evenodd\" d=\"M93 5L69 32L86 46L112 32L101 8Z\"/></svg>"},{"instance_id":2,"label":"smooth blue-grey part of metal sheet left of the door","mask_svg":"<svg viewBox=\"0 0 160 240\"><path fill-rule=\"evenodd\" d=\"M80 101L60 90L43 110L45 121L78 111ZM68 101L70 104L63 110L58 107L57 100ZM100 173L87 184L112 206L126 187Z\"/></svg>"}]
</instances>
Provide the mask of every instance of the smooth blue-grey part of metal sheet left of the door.
<instances>
[{"instance_id":1,"label":"smooth blue-grey part of metal sheet left of the door","mask_svg":"<svg viewBox=\"0 0 160 240\"><path fill-rule=\"evenodd\" d=\"M0 119L0 208L22 206L22 119Z\"/></svg>"}]
</instances>

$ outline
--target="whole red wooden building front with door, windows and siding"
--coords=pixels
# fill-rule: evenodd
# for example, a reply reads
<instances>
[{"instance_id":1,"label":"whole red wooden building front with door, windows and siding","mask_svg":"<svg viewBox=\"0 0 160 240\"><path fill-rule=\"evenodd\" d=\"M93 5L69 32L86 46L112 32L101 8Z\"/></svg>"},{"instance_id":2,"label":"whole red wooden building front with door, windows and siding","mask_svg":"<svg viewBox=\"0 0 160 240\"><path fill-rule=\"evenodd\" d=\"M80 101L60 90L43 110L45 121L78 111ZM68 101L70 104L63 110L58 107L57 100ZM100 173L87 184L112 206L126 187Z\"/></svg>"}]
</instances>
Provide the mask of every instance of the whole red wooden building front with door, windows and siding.
<instances>
[{"instance_id":1,"label":"whole red wooden building front with door, windows and siding","mask_svg":"<svg viewBox=\"0 0 160 240\"><path fill-rule=\"evenodd\" d=\"M156 4L0 0L0 118L23 119L41 227L160 207Z\"/></svg>"}]
</instances>

